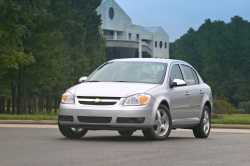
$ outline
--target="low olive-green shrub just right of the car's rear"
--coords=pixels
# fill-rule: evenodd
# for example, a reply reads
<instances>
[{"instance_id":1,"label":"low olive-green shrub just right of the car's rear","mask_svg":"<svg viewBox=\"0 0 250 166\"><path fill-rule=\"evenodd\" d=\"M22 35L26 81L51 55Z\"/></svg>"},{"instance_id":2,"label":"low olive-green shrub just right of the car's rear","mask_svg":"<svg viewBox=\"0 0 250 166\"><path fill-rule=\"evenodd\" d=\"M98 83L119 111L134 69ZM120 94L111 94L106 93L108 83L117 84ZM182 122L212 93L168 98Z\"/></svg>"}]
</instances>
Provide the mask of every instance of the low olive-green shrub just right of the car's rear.
<instances>
[{"instance_id":1,"label":"low olive-green shrub just right of the car's rear","mask_svg":"<svg viewBox=\"0 0 250 166\"><path fill-rule=\"evenodd\" d=\"M216 114L232 114L236 113L236 108L225 99L214 101L214 112Z\"/></svg>"}]
</instances>

